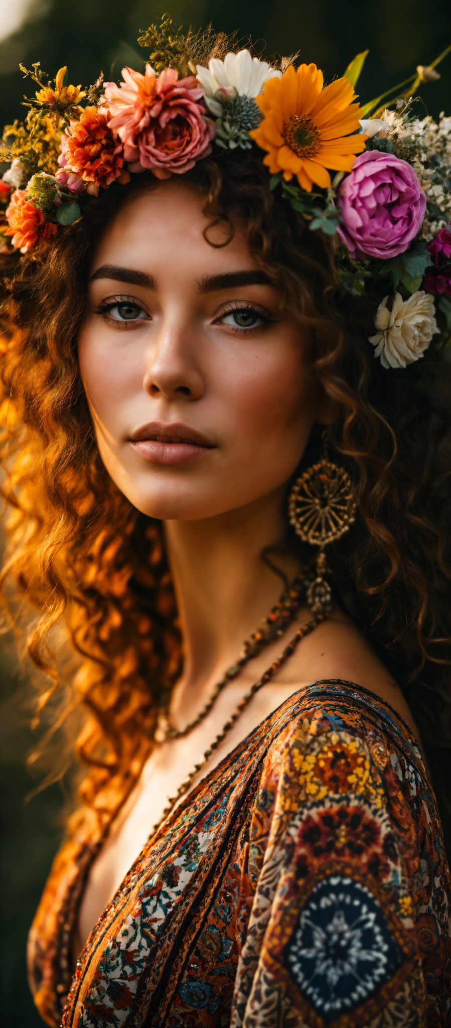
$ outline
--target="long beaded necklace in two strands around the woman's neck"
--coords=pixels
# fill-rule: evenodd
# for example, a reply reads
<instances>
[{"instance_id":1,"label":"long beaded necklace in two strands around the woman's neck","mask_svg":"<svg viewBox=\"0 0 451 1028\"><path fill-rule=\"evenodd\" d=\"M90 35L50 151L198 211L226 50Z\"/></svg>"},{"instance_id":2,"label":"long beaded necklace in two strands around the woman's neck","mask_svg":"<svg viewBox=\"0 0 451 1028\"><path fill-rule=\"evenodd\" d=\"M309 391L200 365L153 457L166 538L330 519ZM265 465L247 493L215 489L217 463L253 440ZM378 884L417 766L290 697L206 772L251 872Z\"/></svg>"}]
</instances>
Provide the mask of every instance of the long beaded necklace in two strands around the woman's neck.
<instances>
[{"instance_id":1,"label":"long beaded necklace in two strands around the woman's neck","mask_svg":"<svg viewBox=\"0 0 451 1028\"><path fill-rule=\"evenodd\" d=\"M224 687L227 685L228 682L230 682L232 678L235 678L239 674L241 667L249 660L251 660L252 657L256 656L257 653L259 653L264 646L267 646L277 635L284 634L291 621L294 620L296 612L299 610L300 605L299 597L301 592L305 590L305 587L306 587L305 579L302 578L301 576L298 576L298 578L295 579L293 584L287 590L285 590L285 592L280 596L280 599L272 609L271 614L264 619L262 627L256 632L254 632L251 638L243 644L242 646L243 653L242 656L237 661L237 663L233 664L231 667L228 668L221 682L219 682L218 685L215 687L211 699L203 707L203 709L200 711L198 717L195 718L194 721L190 722L184 729L178 730L170 724L170 713L168 713L170 700L167 699L165 700L165 703L162 704L160 707L158 713L158 726L155 729L153 736L154 740L157 743L164 742L165 739L175 739L175 738L180 738L183 735L187 735L188 732L190 732L196 725L198 725L203 720L203 718L208 714L209 710L211 710L219 693L222 691L222 689L224 689ZM291 655L294 653L294 650L297 647L298 642L300 642L305 635L308 635L310 632L312 632L313 629L316 628L316 626L321 624L322 621L325 621L327 619L328 613L321 612L316 614L315 617L311 619L311 621L307 621L305 625L299 628L296 634L289 642L289 645L285 647L285 650L283 651L280 656L277 657L275 661L273 661L270 667L268 667L267 670L263 672L258 682L254 683L249 692L246 693L246 695L239 700L239 703L237 704L235 710L230 715L228 721L226 721L222 729L222 732L220 732L219 735L216 736L216 739L212 742L212 745L203 754L203 758L200 761L200 763L194 765L188 777L185 779L184 782L182 782L181 785L179 785L176 796L168 797L167 805L164 808L161 817L156 822L156 824L153 825L150 835L148 836L147 839L148 843L150 842L151 839L153 839L154 835L158 832L158 829L161 827L162 822L165 820L167 815L174 809L176 803L178 803L180 798L184 796L185 793L188 792L194 776L197 774L200 768L203 767L203 765L209 760L209 757L211 756L213 750L216 749L217 746L219 746L220 742L222 742L224 737L227 735L227 732L231 729L232 725L239 717L241 710L243 710L243 708L248 705L254 694L258 692L258 690L261 689L262 686L266 685L266 683L269 682L270 678L273 677L276 671L278 671L278 668L281 667L285 661L289 657L291 657Z\"/></svg>"}]
</instances>

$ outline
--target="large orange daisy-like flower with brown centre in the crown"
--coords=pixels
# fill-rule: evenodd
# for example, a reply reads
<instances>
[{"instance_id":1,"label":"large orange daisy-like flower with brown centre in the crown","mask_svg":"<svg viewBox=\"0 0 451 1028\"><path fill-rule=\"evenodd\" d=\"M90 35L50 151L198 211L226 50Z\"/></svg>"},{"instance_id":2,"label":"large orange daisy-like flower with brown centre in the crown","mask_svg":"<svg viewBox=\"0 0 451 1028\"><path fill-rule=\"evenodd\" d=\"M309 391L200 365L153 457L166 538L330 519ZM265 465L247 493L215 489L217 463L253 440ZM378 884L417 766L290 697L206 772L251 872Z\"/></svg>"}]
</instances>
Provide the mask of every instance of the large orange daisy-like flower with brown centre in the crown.
<instances>
[{"instance_id":1,"label":"large orange daisy-like flower with brown centre in the crown","mask_svg":"<svg viewBox=\"0 0 451 1028\"><path fill-rule=\"evenodd\" d=\"M353 86L338 78L323 89L323 72L316 65L293 65L280 78L270 78L256 97L264 117L250 132L267 150L263 163L272 175L284 173L287 182L296 175L299 185L311 192L312 184L331 185L328 168L350 172L368 136L348 133L360 128L362 109L352 103Z\"/></svg>"}]
</instances>

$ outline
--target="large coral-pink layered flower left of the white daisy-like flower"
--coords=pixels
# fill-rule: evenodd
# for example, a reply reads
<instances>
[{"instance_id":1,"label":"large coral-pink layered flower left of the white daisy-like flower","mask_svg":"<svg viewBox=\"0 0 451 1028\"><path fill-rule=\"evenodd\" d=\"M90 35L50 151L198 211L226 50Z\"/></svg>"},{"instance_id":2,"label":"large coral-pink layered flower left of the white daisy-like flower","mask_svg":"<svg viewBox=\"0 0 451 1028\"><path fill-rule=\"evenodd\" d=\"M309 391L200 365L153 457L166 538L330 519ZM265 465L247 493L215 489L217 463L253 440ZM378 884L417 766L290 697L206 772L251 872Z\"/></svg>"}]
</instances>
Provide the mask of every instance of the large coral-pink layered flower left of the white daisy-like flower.
<instances>
[{"instance_id":1,"label":"large coral-pink layered flower left of the white daisy-like flower","mask_svg":"<svg viewBox=\"0 0 451 1028\"><path fill-rule=\"evenodd\" d=\"M150 168L157 179L181 175L199 157L212 152L215 123L199 103L203 89L194 75L178 81L178 72L165 68L156 76L122 68L123 81L105 83L108 126L117 133L130 172Z\"/></svg>"}]
</instances>

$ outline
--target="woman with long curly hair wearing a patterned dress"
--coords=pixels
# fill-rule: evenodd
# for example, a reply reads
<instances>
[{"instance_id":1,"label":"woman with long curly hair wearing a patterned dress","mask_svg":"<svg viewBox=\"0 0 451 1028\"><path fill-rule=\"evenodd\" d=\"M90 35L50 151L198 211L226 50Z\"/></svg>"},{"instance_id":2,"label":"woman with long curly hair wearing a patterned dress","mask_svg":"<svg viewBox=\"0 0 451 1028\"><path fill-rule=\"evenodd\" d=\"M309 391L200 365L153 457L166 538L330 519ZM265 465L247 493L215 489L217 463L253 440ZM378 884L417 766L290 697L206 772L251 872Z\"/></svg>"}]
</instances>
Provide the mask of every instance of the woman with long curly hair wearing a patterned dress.
<instances>
[{"instance_id":1,"label":"woman with long curly hair wearing a patterned dress","mask_svg":"<svg viewBox=\"0 0 451 1028\"><path fill-rule=\"evenodd\" d=\"M24 250L5 257L2 581L42 612L41 708L60 686L42 645L66 626L63 713L85 711L88 769L30 985L65 1028L445 1025L451 879L425 750L450 709L448 369L433 331L429 392L414 358L375 360L371 286L360 303L339 291L337 238L268 187L263 138L213 149L193 105L220 64L197 67L171 131L174 79L155 100L147 71L124 70L137 106L107 83L107 115L72 118L63 194L47 174L53 213L27 209L32 255L16 212L36 180L6 212ZM266 65L253 102L283 97L290 67ZM320 97L312 68L297 82ZM64 88L40 102L79 102ZM236 96L215 96L215 138L236 140ZM95 121L110 133L96 168ZM347 139L349 172L369 138ZM312 163L295 173L305 203ZM64 189L86 184L57 228Z\"/></svg>"}]
</instances>

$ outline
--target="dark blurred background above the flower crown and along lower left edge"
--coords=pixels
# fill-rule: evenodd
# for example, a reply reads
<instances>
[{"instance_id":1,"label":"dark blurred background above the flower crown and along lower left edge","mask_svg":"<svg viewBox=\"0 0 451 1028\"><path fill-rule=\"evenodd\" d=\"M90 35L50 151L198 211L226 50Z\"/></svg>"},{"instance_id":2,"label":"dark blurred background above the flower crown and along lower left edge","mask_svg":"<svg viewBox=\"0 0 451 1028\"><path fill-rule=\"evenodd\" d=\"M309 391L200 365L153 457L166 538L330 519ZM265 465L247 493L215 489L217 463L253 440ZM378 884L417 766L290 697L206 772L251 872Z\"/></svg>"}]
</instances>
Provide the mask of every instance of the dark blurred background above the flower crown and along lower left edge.
<instances>
[{"instance_id":1,"label":"dark blurred background above the flower crown and along lower left edge","mask_svg":"<svg viewBox=\"0 0 451 1028\"><path fill-rule=\"evenodd\" d=\"M40 61L51 78L68 65L74 85L120 78L127 64L143 70L147 51L137 43L139 31L159 23L168 10L175 25L194 29L208 25L227 33L238 30L241 45L252 34L260 56L299 50L300 60L313 62L326 82L343 74L361 50L370 53L359 81L362 104L414 74L416 65L430 64L451 41L448 0L425 5L421 0L373 0L370 3L314 0L294 4L273 0L173 0L156 6L145 0L0 0L0 122L21 120L27 109L24 94L33 96L34 83L24 79L18 62L28 68ZM266 45L265 45L266 44ZM451 114L451 54L439 67L439 81L422 86L418 117L442 110ZM414 108L415 109L415 108ZM1 526L0 526L1 528ZM27 793L36 786L25 768L27 751L36 743L20 712L20 694L26 680L18 672L8 636L1 640L2 700L0 731L3 797L3 955L2 1021L8 1028L38 1028L43 1022L31 1000L25 969L30 922L61 839L58 812L66 800L64 785L52 785L31 803Z\"/></svg>"}]
</instances>

